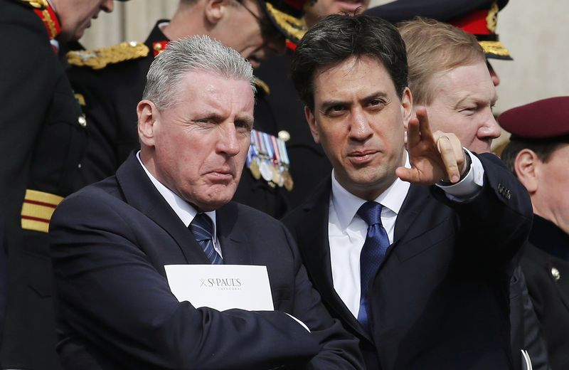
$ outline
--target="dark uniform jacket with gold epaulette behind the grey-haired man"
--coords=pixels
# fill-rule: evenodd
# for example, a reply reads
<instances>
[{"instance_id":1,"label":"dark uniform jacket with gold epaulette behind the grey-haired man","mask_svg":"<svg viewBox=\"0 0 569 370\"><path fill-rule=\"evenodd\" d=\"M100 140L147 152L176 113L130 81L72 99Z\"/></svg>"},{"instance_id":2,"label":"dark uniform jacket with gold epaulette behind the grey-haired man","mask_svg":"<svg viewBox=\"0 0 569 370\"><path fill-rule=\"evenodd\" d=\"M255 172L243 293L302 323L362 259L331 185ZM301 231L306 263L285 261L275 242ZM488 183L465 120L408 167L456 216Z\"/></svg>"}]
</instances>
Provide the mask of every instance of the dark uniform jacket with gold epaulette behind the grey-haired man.
<instances>
[{"instance_id":1,"label":"dark uniform jacket with gold epaulette behind the grey-haired man","mask_svg":"<svg viewBox=\"0 0 569 370\"><path fill-rule=\"evenodd\" d=\"M95 56L87 63L96 65L75 66L68 70L68 75L77 93L85 100L87 115L87 132L89 142L85 161L81 169L83 184L112 176L118 167L129 156L133 149L139 147L137 132L137 104L142 99L146 75L154 56L166 47L168 38L159 28L161 20L156 23L144 45L140 43L122 43L119 46L105 48L108 54ZM122 53L118 61L112 61L111 54ZM87 52L81 53L88 56ZM257 89L254 128L272 135L277 134L272 111L264 100L265 91ZM257 181L250 171L245 169L241 178L235 201L264 211L271 216L279 217L287 211L287 204L282 196L283 189L270 186L266 181Z\"/></svg>"}]
</instances>

